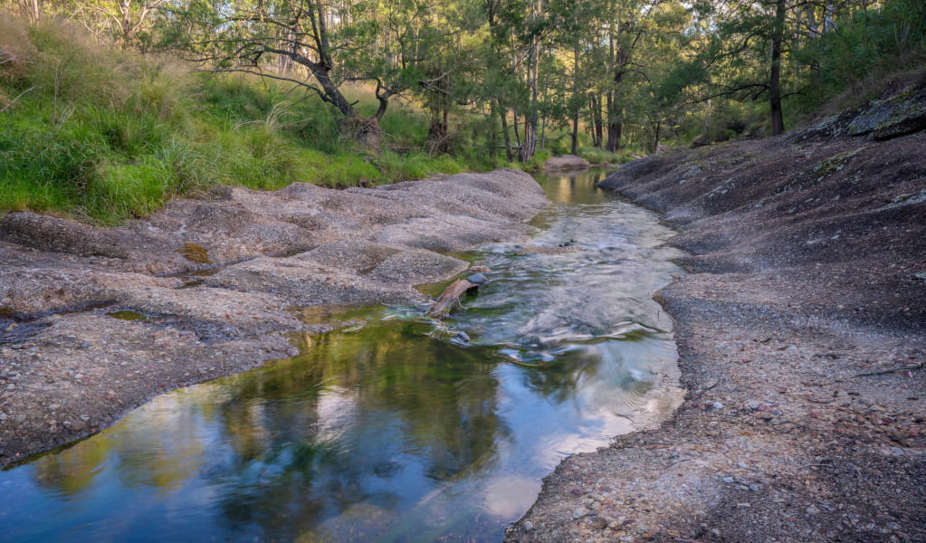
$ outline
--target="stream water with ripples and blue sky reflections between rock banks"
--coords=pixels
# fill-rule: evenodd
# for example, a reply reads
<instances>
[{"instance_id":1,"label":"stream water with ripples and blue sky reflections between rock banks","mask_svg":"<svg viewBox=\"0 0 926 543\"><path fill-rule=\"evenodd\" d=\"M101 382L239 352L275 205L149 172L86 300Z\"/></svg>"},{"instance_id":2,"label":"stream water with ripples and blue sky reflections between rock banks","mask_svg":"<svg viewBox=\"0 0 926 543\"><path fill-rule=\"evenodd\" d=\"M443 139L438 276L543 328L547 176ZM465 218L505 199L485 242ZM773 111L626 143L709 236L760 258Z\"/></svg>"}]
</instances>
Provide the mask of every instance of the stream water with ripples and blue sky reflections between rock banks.
<instances>
[{"instance_id":1,"label":"stream water with ripples and blue sky reflections between rock banks","mask_svg":"<svg viewBox=\"0 0 926 543\"><path fill-rule=\"evenodd\" d=\"M539 179L538 233L467 254L490 282L444 323L307 309L344 327L0 473L0 540L501 540L563 456L679 401L672 232L601 177Z\"/></svg>"}]
</instances>

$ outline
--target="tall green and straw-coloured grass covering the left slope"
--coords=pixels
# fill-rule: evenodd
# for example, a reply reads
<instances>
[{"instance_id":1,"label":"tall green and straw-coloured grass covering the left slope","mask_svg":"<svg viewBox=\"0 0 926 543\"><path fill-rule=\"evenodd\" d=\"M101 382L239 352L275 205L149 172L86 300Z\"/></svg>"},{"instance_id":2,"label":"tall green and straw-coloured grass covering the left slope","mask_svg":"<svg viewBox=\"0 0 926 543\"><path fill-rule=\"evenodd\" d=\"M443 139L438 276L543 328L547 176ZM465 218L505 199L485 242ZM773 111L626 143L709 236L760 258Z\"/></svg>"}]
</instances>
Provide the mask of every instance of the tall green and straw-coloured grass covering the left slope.
<instances>
[{"instance_id":1,"label":"tall green and straw-coloured grass covering the left slope","mask_svg":"<svg viewBox=\"0 0 926 543\"><path fill-rule=\"evenodd\" d=\"M346 187L464 169L423 152L372 154L315 96L188 73L60 20L0 17L0 110L0 214L32 209L112 224L218 184ZM382 129L387 146L421 148L427 121L395 104Z\"/></svg>"}]
</instances>

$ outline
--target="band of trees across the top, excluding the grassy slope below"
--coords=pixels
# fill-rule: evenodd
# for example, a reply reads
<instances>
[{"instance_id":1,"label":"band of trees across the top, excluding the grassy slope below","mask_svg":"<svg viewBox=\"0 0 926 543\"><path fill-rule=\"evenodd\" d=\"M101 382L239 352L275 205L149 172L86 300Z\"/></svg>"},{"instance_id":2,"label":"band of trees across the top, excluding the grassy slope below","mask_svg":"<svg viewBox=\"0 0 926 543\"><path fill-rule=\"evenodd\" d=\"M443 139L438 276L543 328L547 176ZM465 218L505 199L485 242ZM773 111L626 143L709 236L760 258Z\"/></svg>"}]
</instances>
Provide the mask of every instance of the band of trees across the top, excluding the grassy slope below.
<instances>
[{"instance_id":1,"label":"band of trees across the top, excluding the grassy slope below","mask_svg":"<svg viewBox=\"0 0 926 543\"><path fill-rule=\"evenodd\" d=\"M872 70L922 64L921 0L0 0L212 72L286 80L359 141L396 100L429 152L529 161L778 134ZM2 60L2 59L0 59ZM361 112L345 87L362 86ZM564 140L558 142L558 140ZM568 140L568 144L566 143Z\"/></svg>"}]
</instances>

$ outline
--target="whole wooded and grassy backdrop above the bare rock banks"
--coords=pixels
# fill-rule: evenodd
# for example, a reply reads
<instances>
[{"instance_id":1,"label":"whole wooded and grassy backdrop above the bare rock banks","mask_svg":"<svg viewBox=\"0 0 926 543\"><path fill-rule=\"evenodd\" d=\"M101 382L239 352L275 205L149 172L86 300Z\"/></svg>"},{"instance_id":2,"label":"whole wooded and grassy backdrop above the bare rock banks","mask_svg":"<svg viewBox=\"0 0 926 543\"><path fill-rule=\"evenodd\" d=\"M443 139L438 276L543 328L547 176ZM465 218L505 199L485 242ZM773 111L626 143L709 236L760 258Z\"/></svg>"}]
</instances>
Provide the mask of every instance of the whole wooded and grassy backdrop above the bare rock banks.
<instances>
[{"instance_id":1,"label":"whole wooded and grassy backdrop above the bare rock banks","mask_svg":"<svg viewBox=\"0 0 926 543\"><path fill-rule=\"evenodd\" d=\"M0 214L616 163L780 134L924 60L922 0L0 0Z\"/></svg>"}]
</instances>

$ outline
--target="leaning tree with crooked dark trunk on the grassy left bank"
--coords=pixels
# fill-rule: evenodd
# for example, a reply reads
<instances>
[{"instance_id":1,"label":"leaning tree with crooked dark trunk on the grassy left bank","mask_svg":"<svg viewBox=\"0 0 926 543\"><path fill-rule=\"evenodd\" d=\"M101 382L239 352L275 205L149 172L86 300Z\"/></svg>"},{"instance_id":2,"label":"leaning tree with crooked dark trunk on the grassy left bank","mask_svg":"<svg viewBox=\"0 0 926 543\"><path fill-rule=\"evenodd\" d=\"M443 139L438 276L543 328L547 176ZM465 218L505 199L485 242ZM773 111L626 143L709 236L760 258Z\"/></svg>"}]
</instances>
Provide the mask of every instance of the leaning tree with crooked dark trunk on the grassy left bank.
<instances>
[{"instance_id":1,"label":"leaning tree with crooked dark trunk on the grassy left bank","mask_svg":"<svg viewBox=\"0 0 926 543\"><path fill-rule=\"evenodd\" d=\"M419 80L419 52L432 39L418 0L377 5L355 0L181 0L169 5L167 45L213 72L290 81L317 93L361 142L379 141L390 99ZM375 85L379 104L362 116L344 84Z\"/></svg>"}]
</instances>

